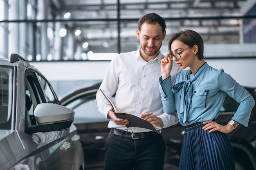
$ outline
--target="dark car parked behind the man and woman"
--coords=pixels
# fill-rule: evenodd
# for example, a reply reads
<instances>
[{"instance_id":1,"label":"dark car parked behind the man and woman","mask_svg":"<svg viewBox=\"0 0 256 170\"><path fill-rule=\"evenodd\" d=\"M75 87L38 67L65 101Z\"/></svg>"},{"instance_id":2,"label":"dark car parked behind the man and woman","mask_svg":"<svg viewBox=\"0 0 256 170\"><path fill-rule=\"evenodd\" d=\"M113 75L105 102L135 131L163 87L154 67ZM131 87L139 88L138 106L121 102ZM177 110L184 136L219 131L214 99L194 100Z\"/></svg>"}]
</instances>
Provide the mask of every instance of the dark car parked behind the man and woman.
<instances>
[{"instance_id":1,"label":"dark car parked behind the man and woman","mask_svg":"<svg viewBox=\"0 0 256 170\"><path fill-rule=\"evenodd\" d=\"M103 170L104 141L109 134L108 120L99 113L95 104L96 92L100 84L73 91L63 99L61 104L75 110L74 124L81 137L85 157L85 169ZM256 100L256 88L247 88ZM115 97L112 98L115 101ZM239 104L227 95L216 119L225 125L234 115ZM164 169L177 169L184 135L184 127L180 123L162 129L166 142L166 158ZM247 128L238 126L229 134L235 156L236 170L256 170L256 106L252 110Z\"/></svg>"}]
</instances>

